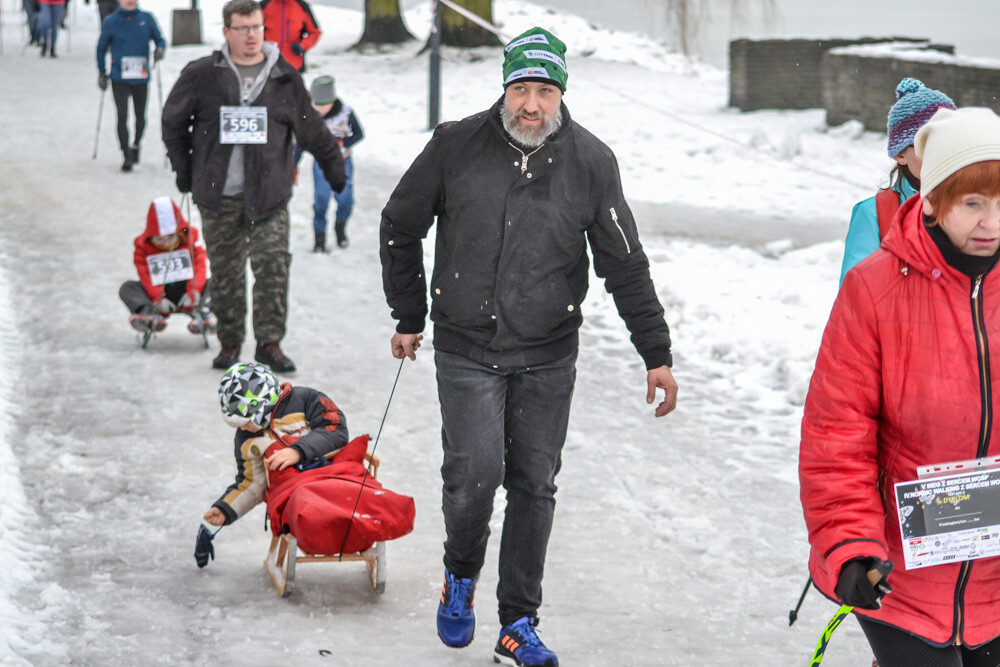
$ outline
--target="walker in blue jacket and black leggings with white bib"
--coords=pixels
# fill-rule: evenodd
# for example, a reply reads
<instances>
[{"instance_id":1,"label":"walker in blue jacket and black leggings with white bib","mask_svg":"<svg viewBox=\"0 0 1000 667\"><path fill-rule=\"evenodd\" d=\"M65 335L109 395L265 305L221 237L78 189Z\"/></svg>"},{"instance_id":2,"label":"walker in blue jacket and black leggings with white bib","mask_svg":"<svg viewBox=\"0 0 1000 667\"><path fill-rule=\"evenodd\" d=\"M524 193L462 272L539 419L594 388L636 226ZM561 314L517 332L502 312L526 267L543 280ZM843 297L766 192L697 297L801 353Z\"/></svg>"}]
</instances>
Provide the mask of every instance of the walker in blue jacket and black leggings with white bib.
<instances>
[{"instance_id":1,"label":"walker in blue jacket and black leggings with white bib","mask_svg":"<svg viewBox=\"0 0 1000 667\"><path fill-rule=\"evenodd\" d=\"M97 85L108 88L105 65L108 49L111 50L111 92L118 109L118 144L125 162L122 171L132 171L139 162L139 142L146 129L146 99L149 91L149 43L153 42L153 64L163 58L167 43L163 39L156 18L138 8L138 0L121 0L118 11L101 24L101 37L97 41ZM135 111L135 139L128 137L128 100L132 98Z\"/></svg>"}]
</instances>

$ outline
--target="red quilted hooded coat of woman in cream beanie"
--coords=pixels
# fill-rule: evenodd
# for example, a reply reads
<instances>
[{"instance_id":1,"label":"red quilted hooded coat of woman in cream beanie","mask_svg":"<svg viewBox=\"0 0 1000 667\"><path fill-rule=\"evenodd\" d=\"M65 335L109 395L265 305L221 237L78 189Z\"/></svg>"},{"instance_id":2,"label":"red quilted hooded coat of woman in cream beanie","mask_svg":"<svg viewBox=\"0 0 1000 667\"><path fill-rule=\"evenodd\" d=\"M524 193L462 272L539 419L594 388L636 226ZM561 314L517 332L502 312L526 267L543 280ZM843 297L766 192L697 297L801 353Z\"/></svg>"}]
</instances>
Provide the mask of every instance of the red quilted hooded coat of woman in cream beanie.
<instances>
[{"instance_id":1,"label":"red quilted hooded coat of woman in cream beanie","mask_svg":"<svg viewBox=\"0 0 1000 667\"><path fill-rule=\"evenodd\" d=\"M823 333L799 453L809 570L834 598L844 563L891 560L893 592L856 613L977 646L1000 636L1000 558L906 570L893 485L919 466L1000 454L1000 275L977 283L945 262L922 207L908 199L882 248L847 273Z\"/></svg>"}]
</instances>

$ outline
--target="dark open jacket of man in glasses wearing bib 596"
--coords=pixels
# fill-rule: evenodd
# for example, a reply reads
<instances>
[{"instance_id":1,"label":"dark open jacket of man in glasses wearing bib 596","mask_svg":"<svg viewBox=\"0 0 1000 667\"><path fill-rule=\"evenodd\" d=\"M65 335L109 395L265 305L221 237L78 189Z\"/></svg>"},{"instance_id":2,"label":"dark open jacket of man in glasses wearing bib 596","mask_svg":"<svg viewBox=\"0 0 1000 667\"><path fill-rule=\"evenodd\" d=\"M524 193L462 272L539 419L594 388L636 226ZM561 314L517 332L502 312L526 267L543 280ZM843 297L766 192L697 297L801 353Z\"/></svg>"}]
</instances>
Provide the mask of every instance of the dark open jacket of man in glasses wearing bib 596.
<instances>
[{"instance_id":1,"label":"dark open jacket of man in glasses wearing bib 596","mask_svg":"<svg viewBox=\"0 0 1000 667\"><path fill-rule=\"evenodd\" d=\"M274 49L265 43L265 48ZM240 80L222 51L188 63L163 107L163 143L178 179L190 178L194 202L222 202L232 144L219 142L219 107L240 106ZM330 186L347 182L336 139L313 108L295 69L280 57L248 106L267 107L267 143L244 145L244 206L250 220L285 207L292 195L293 139L316 158Z\"/></svg>"}]
</instances>

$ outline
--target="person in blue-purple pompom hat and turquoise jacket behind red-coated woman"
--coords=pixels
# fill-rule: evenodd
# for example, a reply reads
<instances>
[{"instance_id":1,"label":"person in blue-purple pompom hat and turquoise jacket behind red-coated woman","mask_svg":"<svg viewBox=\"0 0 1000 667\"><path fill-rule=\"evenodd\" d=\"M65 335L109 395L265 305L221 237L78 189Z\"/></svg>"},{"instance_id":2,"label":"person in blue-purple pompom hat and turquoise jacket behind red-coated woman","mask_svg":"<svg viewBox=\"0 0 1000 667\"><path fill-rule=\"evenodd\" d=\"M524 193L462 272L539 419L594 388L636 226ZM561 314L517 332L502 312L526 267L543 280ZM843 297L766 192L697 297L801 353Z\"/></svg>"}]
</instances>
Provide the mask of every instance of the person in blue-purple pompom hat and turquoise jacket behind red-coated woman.
<instances>
[{"instance_id":1,"label":"person in blue-purple pompom hat and turquoise jacket behind red-coated woman","mask_svg":"<svg viewBox=\"0 0 1000 667\"><path fill-rule=\"evenodd\" d=\"M917 79L907 77L896 86L896 103L889 109L887 123L889 157L896 165L889 172L888 188L854 205L844 243L841 283L851 267L882 245L882 237L900 205L920 190L921 161L914 153L913 138L941 107L954 109L955 103Z\"/></svg>"}]
</instances>

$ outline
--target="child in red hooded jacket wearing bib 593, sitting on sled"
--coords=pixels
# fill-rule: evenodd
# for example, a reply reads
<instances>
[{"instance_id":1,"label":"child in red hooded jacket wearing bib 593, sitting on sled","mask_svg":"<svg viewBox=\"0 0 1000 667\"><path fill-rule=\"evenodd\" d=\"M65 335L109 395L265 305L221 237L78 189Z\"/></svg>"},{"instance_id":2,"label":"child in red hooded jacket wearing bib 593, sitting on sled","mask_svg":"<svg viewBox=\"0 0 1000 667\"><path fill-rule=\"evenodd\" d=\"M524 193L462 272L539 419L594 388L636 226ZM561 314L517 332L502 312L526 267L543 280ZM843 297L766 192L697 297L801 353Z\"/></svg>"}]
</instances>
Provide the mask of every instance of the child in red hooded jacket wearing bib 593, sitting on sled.
<instances>
[{"instance_id":1,"label":"child in red hooded jacket wearing bib 593, sitting on sled","mask_svg":"<svg viewBox=\"0 0 1000 667\"><path fill-rule=\"evenodd\" d=\"M146 231L135 238L133 261L139 280L126 282L118 293L133 329L162 331L173 312L191 316L191 333L215 328L206 293L205 244L170 197L149 205Z\"/></svg>"}]
</instances>

